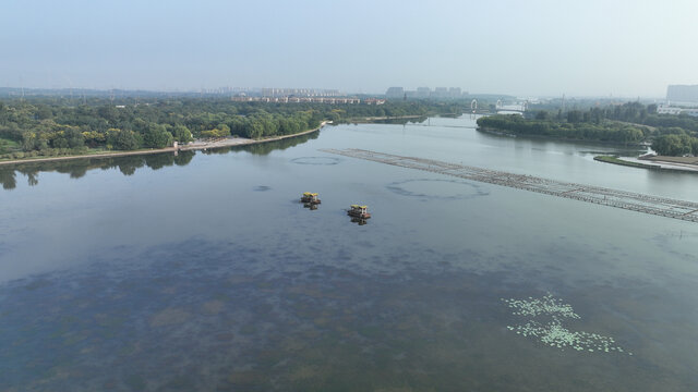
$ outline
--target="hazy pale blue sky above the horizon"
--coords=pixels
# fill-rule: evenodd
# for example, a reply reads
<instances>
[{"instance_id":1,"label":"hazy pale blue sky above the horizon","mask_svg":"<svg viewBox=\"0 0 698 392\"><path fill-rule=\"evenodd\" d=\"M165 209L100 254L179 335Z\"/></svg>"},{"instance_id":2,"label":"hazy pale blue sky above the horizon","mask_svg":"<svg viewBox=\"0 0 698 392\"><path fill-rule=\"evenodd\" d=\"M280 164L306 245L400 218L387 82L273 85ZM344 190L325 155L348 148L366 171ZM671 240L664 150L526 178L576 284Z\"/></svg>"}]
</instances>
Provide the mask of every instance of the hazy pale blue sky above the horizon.
<instances>
[{"instance_id":1,"label":"hazy pale blue sky above the horizon","mask_svg":"<svg viewBox=\"0 0 698 392\"><path fill-rule=\"evenodd\" d=\"M0 86L663 97L698 1L3 0Z\"/></svg>"}]
</instances>

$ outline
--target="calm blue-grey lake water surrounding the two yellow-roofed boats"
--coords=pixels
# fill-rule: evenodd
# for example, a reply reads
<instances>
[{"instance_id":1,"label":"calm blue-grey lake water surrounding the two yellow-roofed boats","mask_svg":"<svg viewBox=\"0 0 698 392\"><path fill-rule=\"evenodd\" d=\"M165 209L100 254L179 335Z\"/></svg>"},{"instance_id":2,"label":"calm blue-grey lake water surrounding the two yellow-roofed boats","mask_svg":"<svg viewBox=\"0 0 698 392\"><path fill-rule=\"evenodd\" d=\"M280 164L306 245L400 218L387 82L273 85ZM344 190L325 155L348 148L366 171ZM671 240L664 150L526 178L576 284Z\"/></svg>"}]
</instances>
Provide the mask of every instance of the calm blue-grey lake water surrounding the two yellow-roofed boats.
<instances>
[{"instance_id":1,"label":"calm blue-grey lake water surrounding the two yellow-roofed boats","mask_svg":"<svg viewBox=\"0 0 698 392\"><path fill-rule=\"evenodd\" d=\"M697 224L318 149L693 201L698 175L429 124L0 169L0 390L698 390Z\"/></svg>"}]
</instances>

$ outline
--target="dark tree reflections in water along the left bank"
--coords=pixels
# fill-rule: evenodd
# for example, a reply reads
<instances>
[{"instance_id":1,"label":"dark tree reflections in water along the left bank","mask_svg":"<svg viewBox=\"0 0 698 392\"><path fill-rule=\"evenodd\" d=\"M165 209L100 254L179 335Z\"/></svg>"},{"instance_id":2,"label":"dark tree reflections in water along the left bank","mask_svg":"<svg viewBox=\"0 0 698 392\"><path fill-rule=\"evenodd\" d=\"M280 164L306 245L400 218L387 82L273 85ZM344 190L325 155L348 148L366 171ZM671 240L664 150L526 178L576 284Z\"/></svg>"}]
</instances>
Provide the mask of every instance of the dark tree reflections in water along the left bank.
<instances>
[{"instance_id":1,"label":"dark tree reflections in water along the left bank","mask_svg":"<svg viewBox=\"0 0 698 392\"><path fill-rule=\"evenodd\" d=\"M289 137L281 140L261 143L249 146L234 146L227 148L208 149L202 151L206 155L229 154L246 151L253 155L268 155L274 150L284 150L310 139L315 139L320 132ZM23 162L19 164L0 166L0 184L2 188L10 191L17 185L17 173L23 174L27 179L29 186L39 183L39 173L57 172L69 174L71 179L80 179L87 174L91 170L110 170L118 169L123 175L133 175L137 169L149 168L159 170L166 167L189 164L196 155L195 151L179 151L178 154L163 152L140 156L125 156L115 158L85 158L65 161L46 161L46 162Z\"/></svg>"}]
</instances>

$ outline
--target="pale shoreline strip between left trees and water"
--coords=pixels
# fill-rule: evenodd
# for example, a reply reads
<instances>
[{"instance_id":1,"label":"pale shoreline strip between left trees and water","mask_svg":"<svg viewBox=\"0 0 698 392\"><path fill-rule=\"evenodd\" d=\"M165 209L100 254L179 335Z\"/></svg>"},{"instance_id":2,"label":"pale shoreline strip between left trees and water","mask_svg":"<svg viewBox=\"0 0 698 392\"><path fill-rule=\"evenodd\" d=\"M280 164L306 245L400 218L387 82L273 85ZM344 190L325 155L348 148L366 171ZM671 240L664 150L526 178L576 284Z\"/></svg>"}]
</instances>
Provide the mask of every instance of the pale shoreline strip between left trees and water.
<instances>
[{"instance_id":1,"label":"pale shoreline strip between left trees and water","mask_svg":"<svg viewBox=\"0 0 698 392\"><path fill-rule=\"evenodd\" d=\"M323 121L318 127L313 130L299 132L292 135L272 136L264 139L251 139L246 137L227 137L227 138L217 139L217 140L198 139L198 140L194 140L186 145L181 145L178 147L151 148L151 149L140 149L140 150L133 150L133 151L105 151L99 154L85 154L85 155L79 155L79 156L64 156L64 157L45 157L45 158L33 157L33 158L23 158L23 159L12 159L12 160L0 161L0 166L33 163L33 162L51 162L51 161L73 160L73 159L115 158L115 157L140 156L140 155L161 154L161 152L206 150L206 149L216 149L216 148L225 148L225 147L232 147L232 146L246 146L246 145L276 142L276 140L281 140L290 137L306 135L306 134L320 131L323 126L325 126L328 123L330 123L330 121Z\"/></svg>"}]
</instances>

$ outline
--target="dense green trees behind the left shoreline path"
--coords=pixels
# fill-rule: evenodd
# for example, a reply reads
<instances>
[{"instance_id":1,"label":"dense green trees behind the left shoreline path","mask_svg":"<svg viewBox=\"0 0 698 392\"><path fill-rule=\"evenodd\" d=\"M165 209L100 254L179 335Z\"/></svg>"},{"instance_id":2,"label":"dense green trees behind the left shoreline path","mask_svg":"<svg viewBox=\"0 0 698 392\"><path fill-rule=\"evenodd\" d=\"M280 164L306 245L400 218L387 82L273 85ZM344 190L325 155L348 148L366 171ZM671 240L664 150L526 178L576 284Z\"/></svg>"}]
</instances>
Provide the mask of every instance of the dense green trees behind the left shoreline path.
<instances>
[{"instance_id":1,"label":"dense green trees behind the left shoreline path","mask_svg":"<svg viewBox=\"0 0 698 392\"><path fill-rule=\"evenodd\" d=\"M466 102L394 101L381 106L234 102L177 98L82 105L60 98L0 101L0 158L163 148L194 138L263 138L315 128L324 120L460 113Z\"/></svg>"}]
</instances>

